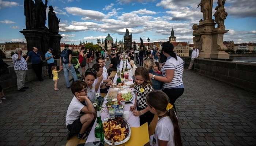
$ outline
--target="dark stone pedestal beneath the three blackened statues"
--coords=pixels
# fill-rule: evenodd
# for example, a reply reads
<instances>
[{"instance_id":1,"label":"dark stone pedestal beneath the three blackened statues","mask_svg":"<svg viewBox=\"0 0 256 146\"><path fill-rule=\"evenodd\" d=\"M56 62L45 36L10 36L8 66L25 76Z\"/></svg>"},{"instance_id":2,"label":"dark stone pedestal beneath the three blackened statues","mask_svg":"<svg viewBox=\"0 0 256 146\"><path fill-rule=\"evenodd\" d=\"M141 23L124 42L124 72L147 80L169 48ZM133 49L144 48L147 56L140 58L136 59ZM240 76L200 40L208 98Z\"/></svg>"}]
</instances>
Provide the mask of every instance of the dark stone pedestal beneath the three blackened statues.
<instances>
[{"instance_id":1,"label":"dark stone pedestal beneath the three blackened statues","mask_svg":"<svg viewBox=\"0 0 256 146\"><path fill-rule=\"evenodd\" d=\"M45 53L52 48L54 50L53 55L59 58L60 54L60 40L59 34L52 34L48 29L23 29L20 31L27 40L27 51L32 51L33 47L37 47L38 51L42 53L42 58L45 58Z\"/></svg>"}]
</instances>

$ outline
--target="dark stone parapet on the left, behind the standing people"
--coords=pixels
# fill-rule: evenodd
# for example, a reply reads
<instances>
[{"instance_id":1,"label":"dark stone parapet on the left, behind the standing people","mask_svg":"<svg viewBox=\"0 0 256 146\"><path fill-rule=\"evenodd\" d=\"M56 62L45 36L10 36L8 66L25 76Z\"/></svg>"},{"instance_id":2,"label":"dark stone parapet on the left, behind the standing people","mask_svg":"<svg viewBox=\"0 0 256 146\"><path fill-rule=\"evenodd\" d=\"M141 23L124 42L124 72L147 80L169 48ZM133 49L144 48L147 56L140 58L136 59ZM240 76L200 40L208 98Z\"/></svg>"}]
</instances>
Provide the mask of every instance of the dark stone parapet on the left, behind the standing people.
<instances>
[{"instance_id":1,"label":"dark stone parapet on the left, behind the standing people","mask_svg":"<svg viewBox=\"0 0 256 146\"><path fill-rule=\"evenodd\" d=\"M72 58L78 58L78 56L74 56ZM48 65L46 61L43 61L43 62L44 64L42 67L42 76L45 77L45 76L48 76ZM60 66L59 59L54 59L54 62L57 66ZM28 62L27 68L28 70L26 71L25 82L37 80L37 76L35 75L31 62ZM0 85L4 89L17 86L17 76L16 76L16 73L14 72L14 66L10 65L8 69L9 69L9 73L1 74L0 76Z\"/></svg>"}]
</instances>

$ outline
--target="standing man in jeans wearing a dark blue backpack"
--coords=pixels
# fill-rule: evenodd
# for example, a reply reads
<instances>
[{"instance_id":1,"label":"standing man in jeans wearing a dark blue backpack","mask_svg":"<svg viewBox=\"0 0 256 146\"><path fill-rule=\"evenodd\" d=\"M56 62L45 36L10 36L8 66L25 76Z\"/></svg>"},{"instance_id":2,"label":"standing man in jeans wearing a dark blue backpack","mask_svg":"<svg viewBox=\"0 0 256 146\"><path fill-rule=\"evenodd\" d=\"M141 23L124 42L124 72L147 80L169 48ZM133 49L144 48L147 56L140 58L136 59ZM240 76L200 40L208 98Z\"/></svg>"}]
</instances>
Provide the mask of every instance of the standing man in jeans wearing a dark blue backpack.
<instances>
[{"instance_id":1,"label":"standing man in jeans wearing a dark blue backpack","mask_svg":"<svg viewBox=\"0 0 256 146\"><path fill-rule=\"evenodd\" d=\"M66 87L70 88L68 72L70 72L72 74L74 81L77 81L78 78L76 75L75 68L74 68L73 64L71 64L72 51L68 49L68 47L69 47L68 45L65 45L64 47L65 47L65 49L60 54L60 68L63 68L63 70L64 70Z\"/></svg>"}]
</instances>

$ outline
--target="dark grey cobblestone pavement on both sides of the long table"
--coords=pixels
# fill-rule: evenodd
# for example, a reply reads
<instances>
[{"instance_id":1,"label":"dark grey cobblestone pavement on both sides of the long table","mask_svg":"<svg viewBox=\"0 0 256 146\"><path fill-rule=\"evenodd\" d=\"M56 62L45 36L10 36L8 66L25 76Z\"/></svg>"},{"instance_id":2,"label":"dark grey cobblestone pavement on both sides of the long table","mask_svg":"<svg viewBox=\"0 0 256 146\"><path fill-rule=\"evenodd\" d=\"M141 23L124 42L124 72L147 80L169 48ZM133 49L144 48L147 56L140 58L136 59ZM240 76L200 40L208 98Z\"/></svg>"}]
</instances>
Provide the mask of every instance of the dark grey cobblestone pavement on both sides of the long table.
<instances>
[{"instance_id":1,"label":"dark grey cobblestone pavement on both sides of the long table","mask_svg":"<svg viewBox=\"0 0 256 146\"><path fill-rule=\"evenodd\" d=\"M32 81L26 92L4 91L0 104L0 145L62 146L65 115L73 97L59 74L53 81ZM176 101L184 146L256 145L256 94L184 71L184 94Z\"/></svg>"}]
</instances>

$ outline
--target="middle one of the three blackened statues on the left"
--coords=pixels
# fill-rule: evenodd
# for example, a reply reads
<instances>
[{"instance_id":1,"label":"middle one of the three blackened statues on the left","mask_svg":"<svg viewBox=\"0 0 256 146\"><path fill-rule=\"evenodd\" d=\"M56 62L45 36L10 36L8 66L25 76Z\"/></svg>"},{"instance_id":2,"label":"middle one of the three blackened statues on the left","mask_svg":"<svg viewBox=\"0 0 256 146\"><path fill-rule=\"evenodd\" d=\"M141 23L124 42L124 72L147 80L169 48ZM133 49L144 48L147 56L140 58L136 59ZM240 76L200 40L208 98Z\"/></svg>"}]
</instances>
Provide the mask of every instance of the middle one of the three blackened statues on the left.
<instances>
[{"instance_id":1,"label":"middle one of the three blackened statues on the left","mask_svg":"<svg viewBox=\"0 0 256 146\"><path fill-rule=\"evenodd\" d=\"M46 8L47 8L48 0L45 0L45 4L42 0L35 0L35 17L37 20L37 28L46 28Z\"/></svg>"}]
</instances>

